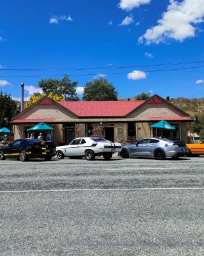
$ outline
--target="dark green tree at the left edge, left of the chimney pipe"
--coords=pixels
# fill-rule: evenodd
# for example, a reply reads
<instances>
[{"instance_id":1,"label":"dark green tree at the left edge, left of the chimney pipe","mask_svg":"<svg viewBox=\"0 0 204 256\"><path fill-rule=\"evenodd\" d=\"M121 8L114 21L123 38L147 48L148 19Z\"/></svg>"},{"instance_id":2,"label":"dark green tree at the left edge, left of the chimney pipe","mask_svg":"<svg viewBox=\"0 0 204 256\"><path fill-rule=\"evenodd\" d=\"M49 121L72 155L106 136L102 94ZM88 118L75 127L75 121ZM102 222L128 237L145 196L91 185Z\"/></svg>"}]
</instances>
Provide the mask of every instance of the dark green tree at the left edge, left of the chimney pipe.
<instances>
[{"instance_id":1,"label":"dark green tree at the left edge, left of the chimney pipe","mask_svg":"<svg viewBox=\"0 0 204 256\"><path fill-rule=\"evenodd\" d=\"M9 94L0 93L0 125L4 126L11 121L13 116L17 115L17 104Z\"/></svg>"}]
</instances>

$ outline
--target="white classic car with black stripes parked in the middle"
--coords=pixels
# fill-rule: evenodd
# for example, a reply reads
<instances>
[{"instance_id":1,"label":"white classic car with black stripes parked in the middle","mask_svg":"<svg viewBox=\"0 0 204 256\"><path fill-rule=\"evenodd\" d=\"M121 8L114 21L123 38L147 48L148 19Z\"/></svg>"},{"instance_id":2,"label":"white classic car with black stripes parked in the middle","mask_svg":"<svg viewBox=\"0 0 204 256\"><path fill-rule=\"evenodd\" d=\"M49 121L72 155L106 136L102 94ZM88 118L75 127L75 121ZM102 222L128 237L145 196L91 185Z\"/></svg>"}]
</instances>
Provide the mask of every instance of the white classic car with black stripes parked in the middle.
<instances>
[{"instance_id":1,"label":"white classic car with black stripes parked in the middle","mask_svg":"<svg viewBox=\"0 0 204 256\"><path fill-rule=\"evenodd\" d=\"M120 143L113 143L103 138L84 137L77 138L69 145L56 148L56 156L63 159L65 156L70 158L85 156L87 160L94 160L96 156L103 156L104 159L111 159L113 153L120 152Z\"/></svg>"}]
</instances>

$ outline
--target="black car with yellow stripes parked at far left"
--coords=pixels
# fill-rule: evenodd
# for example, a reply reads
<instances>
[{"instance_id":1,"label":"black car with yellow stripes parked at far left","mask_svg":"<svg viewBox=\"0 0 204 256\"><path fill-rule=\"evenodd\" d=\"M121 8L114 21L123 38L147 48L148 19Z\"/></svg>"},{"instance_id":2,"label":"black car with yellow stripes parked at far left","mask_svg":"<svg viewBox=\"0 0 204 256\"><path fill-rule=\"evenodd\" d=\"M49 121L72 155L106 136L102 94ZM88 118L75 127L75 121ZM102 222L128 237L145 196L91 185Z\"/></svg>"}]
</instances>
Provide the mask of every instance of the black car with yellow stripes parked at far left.
<instances>
[{"instance_id":1,"label":"black car with yellow stripes parked at far left","mask_svg":"<svg viewBox=\"0 0 204 256\"><path fill-rule=\"evenodd\" d=\"M36 139L15 140L8 146L0 147L0 160L17 158L26 161L29 158L44 158L49 161L55 154L54 143Z\"/></svg>"}]
</instances>

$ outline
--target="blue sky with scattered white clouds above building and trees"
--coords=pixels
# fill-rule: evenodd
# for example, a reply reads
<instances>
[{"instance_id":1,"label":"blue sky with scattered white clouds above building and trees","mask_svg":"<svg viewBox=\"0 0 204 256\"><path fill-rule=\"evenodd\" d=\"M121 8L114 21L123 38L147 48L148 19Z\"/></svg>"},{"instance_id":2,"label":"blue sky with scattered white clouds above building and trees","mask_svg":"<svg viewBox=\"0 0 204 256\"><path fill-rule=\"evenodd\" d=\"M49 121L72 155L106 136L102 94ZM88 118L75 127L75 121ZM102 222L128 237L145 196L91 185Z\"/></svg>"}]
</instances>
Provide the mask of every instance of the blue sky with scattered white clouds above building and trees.
<instances>
[{"instance_id":1,"label":"blue sky with scattered white clouds above building and trees","mask_svg":"<svg viewBox=\"0 0 204 256\"><path fill-rule=\"evenodd\" d=\"M87 81L105 76L120 98L140 92L204 97L202 2L1 0L0 90L20 98L24 82L29 97L41 79L68 74L78 81L79 93ZM187 64L191 61L203 63ZM178 62L184 64L157 66ZM113 68L119 66L123 68ZM68 70L80 67L108 69ZM4 70L9 68L52 70Z\"/></svg>"}]
</instances>

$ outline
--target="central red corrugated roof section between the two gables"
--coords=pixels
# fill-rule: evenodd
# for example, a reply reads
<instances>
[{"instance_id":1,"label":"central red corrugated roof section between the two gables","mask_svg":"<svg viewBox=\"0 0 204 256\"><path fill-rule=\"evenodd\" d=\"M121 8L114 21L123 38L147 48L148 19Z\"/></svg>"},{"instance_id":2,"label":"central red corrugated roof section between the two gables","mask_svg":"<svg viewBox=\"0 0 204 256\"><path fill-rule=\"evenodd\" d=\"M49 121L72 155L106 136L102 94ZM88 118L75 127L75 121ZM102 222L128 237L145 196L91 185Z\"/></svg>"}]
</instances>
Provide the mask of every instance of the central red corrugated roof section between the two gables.
<instances>
[{"instance_id":1,"label":"central red corrugated roof section between the two gables","mask_svg":"<svg viewBox=\"0 0 204 256\"><path fill-rule=\"evenodd\" d=\"M59 101L64 108L80 117L126 116L143 104L145 100L134 101Z\"/></svg>"}]
</instances>

